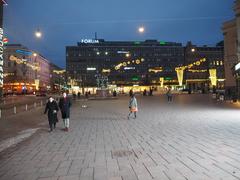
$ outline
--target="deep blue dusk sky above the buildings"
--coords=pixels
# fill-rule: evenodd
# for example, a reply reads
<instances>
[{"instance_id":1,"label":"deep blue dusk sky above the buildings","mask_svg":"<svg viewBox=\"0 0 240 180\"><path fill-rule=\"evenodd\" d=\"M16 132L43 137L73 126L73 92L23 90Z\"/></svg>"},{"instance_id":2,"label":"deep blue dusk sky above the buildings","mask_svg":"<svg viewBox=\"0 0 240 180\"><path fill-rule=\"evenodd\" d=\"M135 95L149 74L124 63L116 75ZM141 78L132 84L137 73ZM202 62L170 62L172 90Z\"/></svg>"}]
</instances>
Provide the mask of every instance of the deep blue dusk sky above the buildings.
<instances>
[{"instance_id":1,"label":"deep blue dusk sky above the buildings","mask_svg":"<svg viewBox=\"0 0 240 180\"><path fill-rule=\"evenodd\" d=\"M20 43L65 67L65 47L81 39L145 40L215 45L234 0L8 0L4 28ZM139 34L137 29L146 31ZM36 39L37 29L43 32Z\"/></svg>"}]
</instances>

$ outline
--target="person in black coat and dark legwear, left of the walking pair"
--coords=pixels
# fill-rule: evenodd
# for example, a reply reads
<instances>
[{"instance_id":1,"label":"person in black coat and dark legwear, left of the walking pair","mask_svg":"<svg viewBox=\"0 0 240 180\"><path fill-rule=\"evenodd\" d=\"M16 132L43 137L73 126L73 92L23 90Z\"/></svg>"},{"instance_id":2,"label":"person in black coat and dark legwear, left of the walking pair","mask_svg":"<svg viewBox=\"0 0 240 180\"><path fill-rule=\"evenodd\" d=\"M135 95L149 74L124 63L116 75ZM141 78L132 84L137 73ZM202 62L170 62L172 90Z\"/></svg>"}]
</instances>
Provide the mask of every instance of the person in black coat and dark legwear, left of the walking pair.
<instances>
[{"instance_id":1,"label":"person in black coat and dark legwear, left of the walking pair","mask_svg":"<svg viewBox=\"0 0 240 180\"><path fill-rule=\"evenodd\" d=\"M44 114L48 113L48 122L50 127L50 132L52 132L53 128L56 128L56 123L58 122L57 112L58 112L57 102L53 99L53 97L49 97L48 102L46 104L46 108Z\"/></svg>"}]
</instances>

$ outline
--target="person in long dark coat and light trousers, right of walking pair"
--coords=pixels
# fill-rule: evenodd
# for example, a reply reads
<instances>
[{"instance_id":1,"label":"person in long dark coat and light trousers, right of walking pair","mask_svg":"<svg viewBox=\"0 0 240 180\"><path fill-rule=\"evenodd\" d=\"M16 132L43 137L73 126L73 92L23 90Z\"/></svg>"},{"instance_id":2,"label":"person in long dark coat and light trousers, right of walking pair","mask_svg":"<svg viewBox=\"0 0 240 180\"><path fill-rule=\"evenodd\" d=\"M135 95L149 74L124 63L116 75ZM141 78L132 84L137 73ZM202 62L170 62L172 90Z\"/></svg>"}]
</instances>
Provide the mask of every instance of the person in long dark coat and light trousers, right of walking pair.
<instances>
[{"instance_id":1,"label":"person in long dark coat and light trousers, right of walking pair","mask_svg":"<svg viewBox=\"0 0 240 180\"><path fill-rule=\"evenodd\" d=\"M72 103L69 99L69 97L67 97L67 94L64 92L63 93L63 97L60 99L59 101L59 108L61 110L62 113L62 119L63 119L63 124L64 124L64 131L68 131L69 130L69 118L70 118L70 107L71 107Z\"/></svg>"}]
</instances>

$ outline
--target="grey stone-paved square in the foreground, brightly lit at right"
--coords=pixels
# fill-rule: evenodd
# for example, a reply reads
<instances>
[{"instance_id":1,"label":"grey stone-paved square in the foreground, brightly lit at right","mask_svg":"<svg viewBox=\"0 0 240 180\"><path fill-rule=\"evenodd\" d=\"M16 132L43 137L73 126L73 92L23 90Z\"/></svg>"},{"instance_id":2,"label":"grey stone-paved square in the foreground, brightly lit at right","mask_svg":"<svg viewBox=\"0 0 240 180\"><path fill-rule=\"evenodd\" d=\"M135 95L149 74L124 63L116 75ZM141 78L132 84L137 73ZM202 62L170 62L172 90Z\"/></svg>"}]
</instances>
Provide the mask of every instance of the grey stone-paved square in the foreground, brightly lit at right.
<instances>
[{"instance_id":1,"label":"grey stone-paved square in the foreground, brightly lit at right","mask_svg":"<svg viewBox=\"0 0 240 180\"><path fill-rule=\"evenodd\" d=\"M79 102L70 132L46 126L1 153L0 179L240 179L239 110L203 95L165 98L138 97L130 120L127 97Z\"/></svg>"}]
</instances>

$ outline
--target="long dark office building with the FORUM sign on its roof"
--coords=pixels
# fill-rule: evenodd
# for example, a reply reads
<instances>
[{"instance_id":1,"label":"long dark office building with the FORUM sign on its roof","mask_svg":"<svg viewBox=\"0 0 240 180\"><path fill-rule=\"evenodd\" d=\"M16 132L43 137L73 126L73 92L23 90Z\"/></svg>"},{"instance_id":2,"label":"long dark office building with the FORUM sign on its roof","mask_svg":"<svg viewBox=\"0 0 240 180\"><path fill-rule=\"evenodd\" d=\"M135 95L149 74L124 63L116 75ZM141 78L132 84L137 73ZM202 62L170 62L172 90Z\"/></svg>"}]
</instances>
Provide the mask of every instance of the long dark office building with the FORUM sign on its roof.
<instances>
[{"instance_id":1,"label":"long dark office building with the FORUM sign on its roof","mask_svg":"<svg viewBox=\"0 0 240 180\"><path fill-rule=\"evenodd\" d=\"M181 43L146 41L81 40L66 47L66 69L78 85L96 86L96 76L106 75L109 84L178 84L175 67L184 63Z\"/></svg>"}]
</instances>

